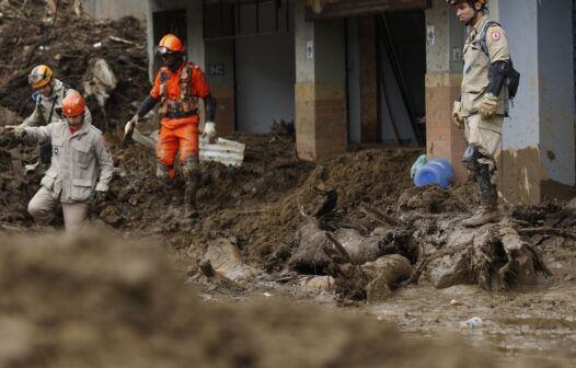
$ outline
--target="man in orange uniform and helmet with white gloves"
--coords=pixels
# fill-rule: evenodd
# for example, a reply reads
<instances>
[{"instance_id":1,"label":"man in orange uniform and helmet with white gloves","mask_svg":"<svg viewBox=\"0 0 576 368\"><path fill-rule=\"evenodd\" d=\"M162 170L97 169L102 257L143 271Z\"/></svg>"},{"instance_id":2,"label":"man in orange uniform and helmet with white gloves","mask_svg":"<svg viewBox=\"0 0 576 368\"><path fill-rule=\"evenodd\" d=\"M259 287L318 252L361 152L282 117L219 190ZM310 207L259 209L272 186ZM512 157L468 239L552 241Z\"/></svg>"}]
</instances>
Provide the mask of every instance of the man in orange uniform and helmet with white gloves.
<instances>
[{"instance_id":1,"label":"man in orange uniform and helmet with white gloves","mask_svg":"<svg viewBox=\"0 0 576 368\"><path fill-rule=\"evenodd\" d=\"M185 216L196 214L196 192L199 181L199 115L198 99L204 99L206 124L203 133L210 143L217 141L214 118L216 100L198 66L184 57L184 45L176 36L165 35L157 46L157 54L164 66L155 76L150 94L143 100L138 112L127 123L126 129L138 124L160 102L160 137L157 145L157 176L173 182L174 162L180 150L180 163L186 183L184 191Z\"/></svg>"}]
</instances>

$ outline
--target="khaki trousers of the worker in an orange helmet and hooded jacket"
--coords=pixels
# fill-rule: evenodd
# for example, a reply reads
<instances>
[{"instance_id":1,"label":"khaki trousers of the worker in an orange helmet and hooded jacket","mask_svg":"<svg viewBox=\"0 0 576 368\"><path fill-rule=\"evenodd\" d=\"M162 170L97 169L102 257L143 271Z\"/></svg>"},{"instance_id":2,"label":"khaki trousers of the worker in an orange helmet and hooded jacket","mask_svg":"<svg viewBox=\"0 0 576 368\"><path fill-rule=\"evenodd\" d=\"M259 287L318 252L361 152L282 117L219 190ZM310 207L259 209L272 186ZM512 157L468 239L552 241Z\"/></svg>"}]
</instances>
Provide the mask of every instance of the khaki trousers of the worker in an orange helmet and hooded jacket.
<instances>
[{"instance_id":1,"label":"khaki trousers of the worker in an orange helmet and hooded jacket","mask_svg":"<svg viewBox=\"0 0 576 368\"><path fill-rule=\"evenodd\" d=\"M54 219L54 211L59 199L54 198L54 193L44 186L32 197L28 203L28 214L38 225L48 225ZM62 203L64 223L67 232L81 230L87 222L88 203Z\"/></svg>"}]
</instances>

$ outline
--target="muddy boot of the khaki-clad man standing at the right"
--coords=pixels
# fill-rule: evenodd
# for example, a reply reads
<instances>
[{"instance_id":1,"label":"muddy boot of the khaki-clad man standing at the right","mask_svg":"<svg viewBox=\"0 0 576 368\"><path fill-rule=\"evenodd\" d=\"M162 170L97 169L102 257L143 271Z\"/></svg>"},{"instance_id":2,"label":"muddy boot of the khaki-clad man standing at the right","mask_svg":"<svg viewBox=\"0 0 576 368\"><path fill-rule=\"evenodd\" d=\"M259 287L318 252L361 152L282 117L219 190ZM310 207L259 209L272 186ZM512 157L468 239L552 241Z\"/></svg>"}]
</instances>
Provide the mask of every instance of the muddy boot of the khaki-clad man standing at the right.
<instances>
[{"instance_id":1,"label":"muddy boot of the khaki-clad man standing at the right","mask_svg":"<svg viewBox=\"0 0 576 368\"><path fill-rule=\"evenodd\" d=\"M498 222L502 215L498 210L498 192L492 184L492 175L487 165L482 165L479 172L477 183L480 191L480 206L472 217L462 221L466 228L475 228L489 222Z\"/></svg>"}]
</instances>

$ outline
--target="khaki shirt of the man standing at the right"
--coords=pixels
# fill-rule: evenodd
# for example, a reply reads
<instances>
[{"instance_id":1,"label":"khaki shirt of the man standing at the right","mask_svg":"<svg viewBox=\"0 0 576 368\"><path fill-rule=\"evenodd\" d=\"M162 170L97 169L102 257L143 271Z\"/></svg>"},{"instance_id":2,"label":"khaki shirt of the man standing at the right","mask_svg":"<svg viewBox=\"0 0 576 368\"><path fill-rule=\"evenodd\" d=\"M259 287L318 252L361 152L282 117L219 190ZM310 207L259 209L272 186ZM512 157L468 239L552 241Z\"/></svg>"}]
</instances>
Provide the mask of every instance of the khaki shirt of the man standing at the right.
<instances>
[{"instance_id":1,"label":"khaki shirt of the man standing at the right","mask_svg":"<svg viewBox=\"0 0 576 368\"><path fill-rule=\"evenodd\" d=\"M470 116L477 113L484 93L489 85L488 67L495 61L507 61L510 59L508 50L508 38L504 30L497 25L491 25L486 32L486 48L489 55L482 50L481 35L488 16L484 15L468 32L464 43L464 72L461 88L462 114ZM499 94L496 114L504 114L505 89Z\"/></svg>"}]
</instances>

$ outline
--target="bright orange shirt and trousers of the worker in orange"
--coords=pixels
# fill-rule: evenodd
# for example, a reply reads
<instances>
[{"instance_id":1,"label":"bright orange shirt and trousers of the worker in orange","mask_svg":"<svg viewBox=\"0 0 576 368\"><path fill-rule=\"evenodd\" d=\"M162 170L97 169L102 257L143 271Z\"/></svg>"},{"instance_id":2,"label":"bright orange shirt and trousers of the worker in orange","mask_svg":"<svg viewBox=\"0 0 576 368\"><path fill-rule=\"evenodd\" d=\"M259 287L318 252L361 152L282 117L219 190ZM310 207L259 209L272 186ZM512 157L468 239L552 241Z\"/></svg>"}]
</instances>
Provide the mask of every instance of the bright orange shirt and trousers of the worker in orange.
<instances>
[{"instance_id":1,"label":"bright orange shirt and trousers of the worker in orange","mask_svg":"<svg viewBox=\"0 0 576 368\"><path fill-rule=\"evenodd\" d=\"M163 67L155 76L154 85L150 91L150 96L154 100L161 100L161 103L166 103L166 100L178 100L181 97L181 81L180 76L189 64L182 62L176 72ZM204 77L204 72L197 66L192 66L191 81L189 81L189 96L206 97L210 94L210 87ZM169 76L170 78L164 82L165 93L162 94L161 76ZM164 77L165 78L165 77ZM162 105L161 105L162 106ZM169 115L169 114L166 114ZM170 117L161 116L160 137L157 145L157 158L162 165L168 169L169 177L174 180L175 170L174 162L176 160L176 152L180 149L180 162L184 162L187 157L198 157L199 139L198 139L198 113L185 117Z\"/></svg>"}]
</instances>

